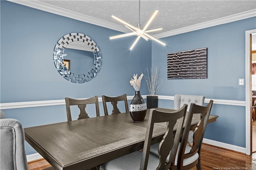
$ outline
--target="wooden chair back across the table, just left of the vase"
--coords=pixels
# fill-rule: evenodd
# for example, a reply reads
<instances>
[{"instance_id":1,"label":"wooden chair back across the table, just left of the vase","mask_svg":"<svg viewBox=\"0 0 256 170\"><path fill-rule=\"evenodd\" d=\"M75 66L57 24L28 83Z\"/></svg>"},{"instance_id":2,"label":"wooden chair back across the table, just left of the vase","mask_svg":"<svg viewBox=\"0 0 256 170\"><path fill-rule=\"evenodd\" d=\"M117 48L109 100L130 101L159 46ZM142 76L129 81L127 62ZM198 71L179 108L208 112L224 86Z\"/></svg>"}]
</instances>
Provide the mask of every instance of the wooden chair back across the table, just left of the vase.
<instances>
[{"instance_id":1,"label":"wooden chair back across the table, just left of the vase","mask_svg":"<svg viewBox=\"0 0 256 170\"><path fill-rule=\"evenodd\" d=\"M104 108L105 115L108 115L107 102L111 102L111 104L113 106L113 110L112 110L112 113L111 113L112 115L117 114L117 113L121 113L119 111L118 107L117 107L118 101L124 101L125 111L129 112L126 94L123 94L123 95L120 95L120 96L117 96L117 97L108 97L108 96L102 95L102 103L103 103L103 108Z\"/></svg>"}]
</instances>

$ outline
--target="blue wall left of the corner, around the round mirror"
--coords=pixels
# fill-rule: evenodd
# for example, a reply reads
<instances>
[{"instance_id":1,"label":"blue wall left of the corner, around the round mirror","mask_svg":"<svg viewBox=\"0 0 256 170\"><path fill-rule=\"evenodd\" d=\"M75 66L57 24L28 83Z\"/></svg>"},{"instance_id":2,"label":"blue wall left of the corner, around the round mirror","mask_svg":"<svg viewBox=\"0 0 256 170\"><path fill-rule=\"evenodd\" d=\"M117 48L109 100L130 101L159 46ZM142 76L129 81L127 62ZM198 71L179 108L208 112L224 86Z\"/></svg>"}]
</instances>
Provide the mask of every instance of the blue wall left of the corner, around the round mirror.
<instances>
[{"instance_id":1,"label":"blue wall left of the corner, around the round mirror","mask_svg":"<svg viewBox=\"0 0 256 170\"><path fill-rule=\"evenodd\" d=\"M0 103L134 95L130 79L151 66L151 42L144 39L130 51L135 37L109 40L109 36L121 33L2 0L0 17ZM67 81L54 66L57 41L72 32L86 34L101 51L100 72L86 83ZM148 93L144 81L141 93ZM67 121L65 105L4 112L7 118L20 120L24 127ZM100 115L104 115L102 105ZM27 143L26 153L35 153Z\"/></svg>"}]
</instances>

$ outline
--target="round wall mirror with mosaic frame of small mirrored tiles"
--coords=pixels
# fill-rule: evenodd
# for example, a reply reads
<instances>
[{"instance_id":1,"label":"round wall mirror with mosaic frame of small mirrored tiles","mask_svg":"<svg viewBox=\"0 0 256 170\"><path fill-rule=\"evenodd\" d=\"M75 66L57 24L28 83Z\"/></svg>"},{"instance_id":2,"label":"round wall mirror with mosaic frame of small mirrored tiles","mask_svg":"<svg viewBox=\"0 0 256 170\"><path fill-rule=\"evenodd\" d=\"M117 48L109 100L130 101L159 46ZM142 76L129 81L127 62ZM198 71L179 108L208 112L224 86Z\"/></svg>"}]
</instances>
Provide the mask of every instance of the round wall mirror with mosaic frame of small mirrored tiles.
<instances>
[{"instance_id":1,"label":"round wall mirror with mosaic frame of small mirrored tiles","mask_svg":"<svg viewBox=\"0 0 256 170\"><path fill-rule=\"evenodd\" d=\"M100 70L100 59L96 43L81 33L66 34L54 48L54 64L58 72L73 83L94 78Z\"/></svg>"}]
</instances>

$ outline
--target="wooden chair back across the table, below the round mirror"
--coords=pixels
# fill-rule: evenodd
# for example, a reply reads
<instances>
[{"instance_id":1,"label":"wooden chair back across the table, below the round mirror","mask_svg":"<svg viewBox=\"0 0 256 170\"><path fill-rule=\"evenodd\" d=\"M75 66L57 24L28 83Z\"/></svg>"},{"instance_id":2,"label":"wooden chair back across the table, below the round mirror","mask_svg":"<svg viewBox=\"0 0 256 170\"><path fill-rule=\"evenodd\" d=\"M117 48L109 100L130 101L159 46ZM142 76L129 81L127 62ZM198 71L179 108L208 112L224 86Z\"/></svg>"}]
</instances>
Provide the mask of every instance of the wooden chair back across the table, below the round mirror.
<instances>
[{"instance_id":1,"label":"wooden chair back across the table, below the round mirror","mask_svg":"<svg viewBox=\"0 0 256 170\"><path fill-rule=\"evenodd\" d=\"M94 104L96 105L96 116L100 116L100 109L99 109L99 102L98 102L98 96L91 97L88 99L71 99L66 97L65 98L66 102L66 110L67 110L67 116L68 116L68 121L72 121L71 118L71 111L70 111L70 106L72 105L78 105L78 108L80 109L80 114L78 116L78 119L87 119L90 118L88 114L86 113L86 105L87 104Z\"/></svg>"}]
</instances>

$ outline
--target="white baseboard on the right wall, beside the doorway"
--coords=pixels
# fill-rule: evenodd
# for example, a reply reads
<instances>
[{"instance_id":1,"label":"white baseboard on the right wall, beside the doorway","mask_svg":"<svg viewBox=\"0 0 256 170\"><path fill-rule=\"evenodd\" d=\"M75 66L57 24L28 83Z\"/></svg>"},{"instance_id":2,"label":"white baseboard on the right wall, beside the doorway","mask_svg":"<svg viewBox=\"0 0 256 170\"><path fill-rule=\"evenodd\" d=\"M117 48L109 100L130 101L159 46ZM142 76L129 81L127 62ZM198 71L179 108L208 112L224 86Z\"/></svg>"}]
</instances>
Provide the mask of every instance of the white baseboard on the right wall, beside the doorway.
<instances>
[{"instance_id":1,"label":"white baseboard on the right wall, beside the doorway","mask_svg":"<svg viewBox=\"0 0 256 170\"><path fill-rule=\"evenodd\" d=\"M215 140L210 140L210 139L204 138L203 143L210 144L210 145L213 145L213 146L218 146L218 147L221 147L221 148L226 148L226 149L229 149L229 150L234 150L236 152L246 153L246 148L243 148L243 147L240 147L240 146L235 146L235 145L232 145L232 144L226 144L226 143L223 143L223 142L218 142L218 141L215 141Z\"/></svg>"}]
</instances>

